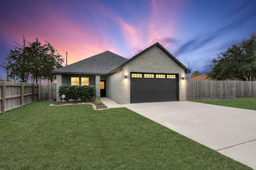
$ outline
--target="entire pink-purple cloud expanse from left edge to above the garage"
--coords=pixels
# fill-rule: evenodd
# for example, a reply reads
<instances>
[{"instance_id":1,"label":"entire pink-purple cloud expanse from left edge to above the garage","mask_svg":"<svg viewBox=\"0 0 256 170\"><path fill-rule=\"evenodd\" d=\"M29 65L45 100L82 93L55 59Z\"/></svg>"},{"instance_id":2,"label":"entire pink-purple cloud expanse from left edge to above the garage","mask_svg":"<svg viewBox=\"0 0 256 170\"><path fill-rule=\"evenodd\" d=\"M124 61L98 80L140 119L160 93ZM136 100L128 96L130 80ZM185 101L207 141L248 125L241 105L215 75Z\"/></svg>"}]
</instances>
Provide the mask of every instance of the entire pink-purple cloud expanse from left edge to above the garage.
<instances>
[{"instance_id":1,"label":"entire pink-purple cloud expanse from left edge to above the garage","mask_svg":"<svg viewBox=\"0 0 256 170\"><path fill-rule=\"evenodd\" d=\"M22 43L22 34L26 41L35 41L36 37L41 43L47 40L64 58L68 51L68 64L107 50L132 57L156 42L164 47L171 47L172 43L168 38L174 36L178 1L145 1L144 3L150 3L149 12L144 15L146 18L137 18L133 14L136 11L134 4L126 2L127 11L131 10L128 15L136 18L136 21L126 20L100 2L93 3L95 8L89 9L91 16L80 16L79 21L77 18L72 19L64 9L56 12L50 8L40 8L38 3L27 4L32 9L31 14L35 16L28 19L25 16L22 21L4 20L5 41ZM95 11L97 15L94 15ZM110 37L112 35L107 31L110 27L117 29L112 35L118 37L118 40ZM121 35L117 32L121 32ZM12 45L14 47L15 44Z\"/></svg>"}]
</instances>

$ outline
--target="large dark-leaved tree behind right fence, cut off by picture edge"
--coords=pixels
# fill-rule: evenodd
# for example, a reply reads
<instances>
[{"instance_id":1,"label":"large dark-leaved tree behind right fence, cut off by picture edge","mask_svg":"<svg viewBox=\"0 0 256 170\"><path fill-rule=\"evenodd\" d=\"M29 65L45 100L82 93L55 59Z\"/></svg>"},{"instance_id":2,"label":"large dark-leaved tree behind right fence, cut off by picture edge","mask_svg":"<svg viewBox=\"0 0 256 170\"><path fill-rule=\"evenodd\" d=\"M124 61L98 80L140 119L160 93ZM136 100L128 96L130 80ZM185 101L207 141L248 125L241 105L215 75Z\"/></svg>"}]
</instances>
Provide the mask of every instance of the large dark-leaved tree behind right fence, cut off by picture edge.
<instances>
[{"instance_id":1,"label":"large dark-leaved tree behind right fence, cut off by picture edge","mask_svg":"<svg viewBox=\"0 0 256 170\"><path fill-rule=\"evenodd\" d=\"M232 44L211 63L211 71L206 75L212 80L255 80L256 33L252 33L250 39Z\"/></svg>"}]
</instances>

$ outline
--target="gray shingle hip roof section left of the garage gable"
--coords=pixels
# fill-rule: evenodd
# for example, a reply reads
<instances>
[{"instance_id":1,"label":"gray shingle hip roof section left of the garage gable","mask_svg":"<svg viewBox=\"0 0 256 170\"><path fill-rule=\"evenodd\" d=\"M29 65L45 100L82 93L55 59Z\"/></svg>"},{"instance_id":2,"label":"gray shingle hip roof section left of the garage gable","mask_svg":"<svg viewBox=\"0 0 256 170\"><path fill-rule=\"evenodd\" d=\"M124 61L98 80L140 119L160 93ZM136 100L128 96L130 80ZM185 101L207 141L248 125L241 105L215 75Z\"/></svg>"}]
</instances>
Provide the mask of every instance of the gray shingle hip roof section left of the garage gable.
<instances>
[{"instance_id":1,"label":"gray shingle hip roof section left of the garage gable","mask_svg":"<svg viewBox=\"0 0 256 170\"><path fill-rule=\"evenodd\" d=\"M116 55L110 51L105 51L87 59L78 61L68 66L53 70L54 74L108 74L128 59Z\"/></svg>"}]
</instances>

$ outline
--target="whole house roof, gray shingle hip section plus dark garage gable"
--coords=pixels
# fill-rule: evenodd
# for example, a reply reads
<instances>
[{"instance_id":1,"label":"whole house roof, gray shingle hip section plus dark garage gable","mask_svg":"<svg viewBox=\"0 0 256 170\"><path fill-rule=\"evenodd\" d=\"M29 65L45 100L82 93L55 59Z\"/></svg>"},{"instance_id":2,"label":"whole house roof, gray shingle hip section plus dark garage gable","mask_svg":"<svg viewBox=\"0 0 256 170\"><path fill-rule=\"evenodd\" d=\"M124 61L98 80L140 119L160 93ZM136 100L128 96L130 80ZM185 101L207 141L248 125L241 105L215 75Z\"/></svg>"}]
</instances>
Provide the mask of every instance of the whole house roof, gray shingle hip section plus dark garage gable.
<instances>
[{"instance_id":1,"label":"whole house roof, gray shingle hip section plus dark garage gable","mask_svg":"<svg viewBox=\"0 0 256 170\"><path fill-rule=\"evenodd\" d=\"M98 75L109 75L116 70L122 70L122 66L130 63L140 55L146 53L146 51L158 46L166 55L168 55L172 60L174 60L180 67L185 70L185 73L190 73L191 71L186 68L180 61L178 61L171 53L169 53L162 45L155 43L154 45L146 48L137 55L134 55L130 60L116 55L110 51L105 51L98 55L94 55L82 61L70 64L68 66L58 68L53 70L53 74L98 74Z\"/></svg>"}]
</instances>

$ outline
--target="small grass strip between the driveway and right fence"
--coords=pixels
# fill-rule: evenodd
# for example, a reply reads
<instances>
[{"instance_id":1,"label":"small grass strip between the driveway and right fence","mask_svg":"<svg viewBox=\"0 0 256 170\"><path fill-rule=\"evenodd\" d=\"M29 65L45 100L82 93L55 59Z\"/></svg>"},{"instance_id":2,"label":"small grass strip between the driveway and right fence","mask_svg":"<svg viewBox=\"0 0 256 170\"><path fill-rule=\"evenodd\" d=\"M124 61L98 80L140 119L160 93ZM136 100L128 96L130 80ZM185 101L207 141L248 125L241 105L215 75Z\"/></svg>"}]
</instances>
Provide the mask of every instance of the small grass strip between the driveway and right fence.
<instances>
[{"instance_id":1,"label":"small grass strip between the driveway and right fence","mask_svg":"<svg viewBox=\"0 0 256 170\"><path fill-rule=\"evenodd\" d=\"M256 97L237 98L236 100L224 100L224 101L193 101L193 102L256 110Z\"/></svg>"}]
</instances>

